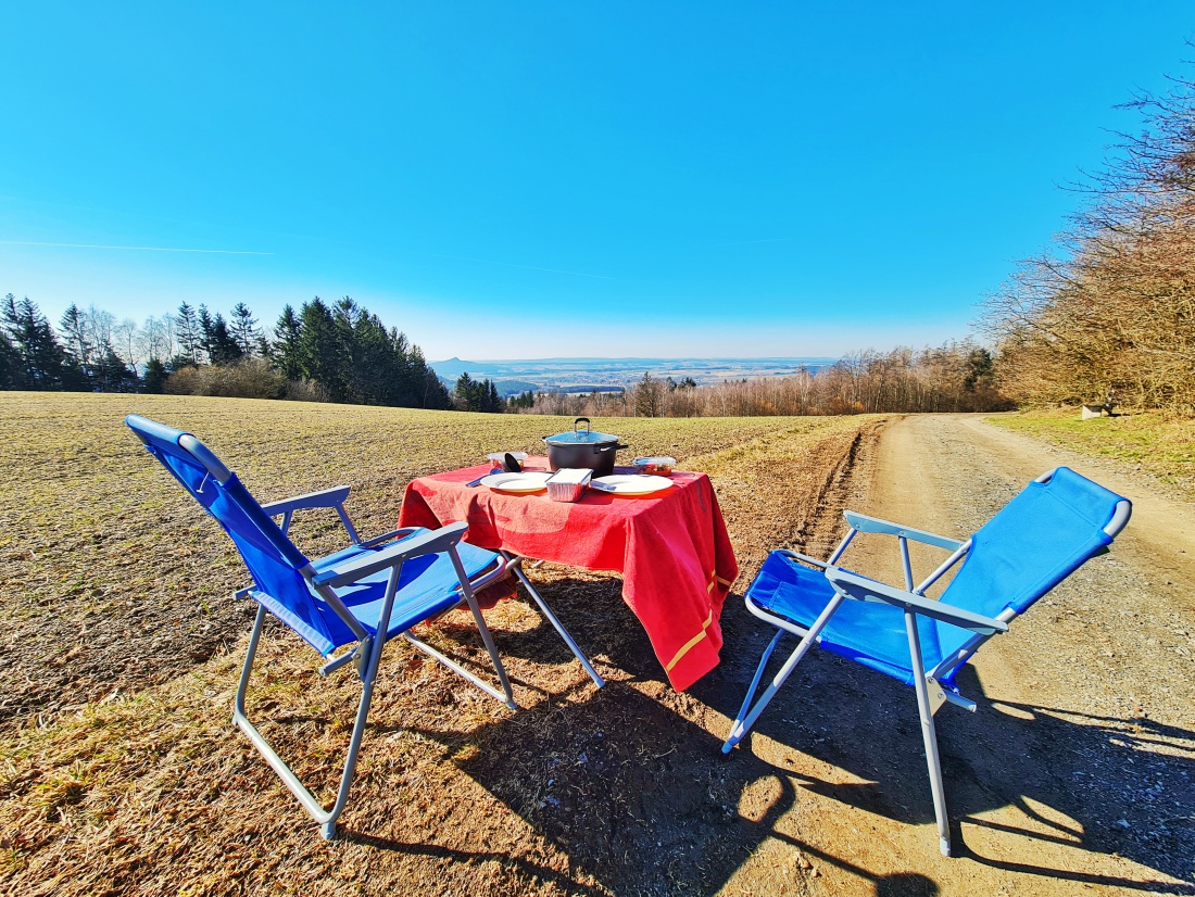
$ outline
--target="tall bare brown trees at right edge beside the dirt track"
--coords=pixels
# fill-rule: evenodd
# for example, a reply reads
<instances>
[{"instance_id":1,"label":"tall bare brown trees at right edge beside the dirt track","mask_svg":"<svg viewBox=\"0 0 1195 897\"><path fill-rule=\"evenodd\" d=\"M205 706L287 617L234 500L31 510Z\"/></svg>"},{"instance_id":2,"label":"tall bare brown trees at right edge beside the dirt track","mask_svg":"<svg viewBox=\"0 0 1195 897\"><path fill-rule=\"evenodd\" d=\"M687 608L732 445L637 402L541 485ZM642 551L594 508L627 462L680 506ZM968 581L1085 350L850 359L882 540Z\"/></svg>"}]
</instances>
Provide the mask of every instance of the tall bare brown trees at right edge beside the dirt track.
<instances>
[{"instance_id":1,"label":"tall bare brown trees at right edge beside the dirt track","mask_svg":"<svg viewBox=\"0 0 1195 897\"><path fill-rule=\"evenodd\" d=\"M1029 403L1195 413L1195 81L1127 107L1110 162L1078 185L1085 208L987 303L997 373Z\"/></svg>"}]
</instances>

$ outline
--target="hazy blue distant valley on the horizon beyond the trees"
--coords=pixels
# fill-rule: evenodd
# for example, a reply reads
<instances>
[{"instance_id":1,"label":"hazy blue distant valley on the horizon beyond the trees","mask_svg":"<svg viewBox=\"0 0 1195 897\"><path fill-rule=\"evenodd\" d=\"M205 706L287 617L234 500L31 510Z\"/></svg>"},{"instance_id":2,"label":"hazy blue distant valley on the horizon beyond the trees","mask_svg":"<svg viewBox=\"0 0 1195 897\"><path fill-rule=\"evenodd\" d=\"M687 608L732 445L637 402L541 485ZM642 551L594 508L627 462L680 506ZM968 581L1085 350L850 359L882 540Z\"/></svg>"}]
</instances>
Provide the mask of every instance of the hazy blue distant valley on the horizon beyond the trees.
<instances>
[{"instance_id":1,"label":"hazy blue distant valley on the horizon beyond the trees","mask_svg":"<svg viewBox=\"0 0 1195 897\"><path fill-rule=\"evenodd\" d=\"M429 362L449 388L461 374L474 380L492 380L500 393L613 392L643 377L644 373L664 380L693 377L699 385L718 383L743 377L777 377L795 374L798 368L820 370L838 358L528 358L503 361Z\"/></svg>"}]
</instances>

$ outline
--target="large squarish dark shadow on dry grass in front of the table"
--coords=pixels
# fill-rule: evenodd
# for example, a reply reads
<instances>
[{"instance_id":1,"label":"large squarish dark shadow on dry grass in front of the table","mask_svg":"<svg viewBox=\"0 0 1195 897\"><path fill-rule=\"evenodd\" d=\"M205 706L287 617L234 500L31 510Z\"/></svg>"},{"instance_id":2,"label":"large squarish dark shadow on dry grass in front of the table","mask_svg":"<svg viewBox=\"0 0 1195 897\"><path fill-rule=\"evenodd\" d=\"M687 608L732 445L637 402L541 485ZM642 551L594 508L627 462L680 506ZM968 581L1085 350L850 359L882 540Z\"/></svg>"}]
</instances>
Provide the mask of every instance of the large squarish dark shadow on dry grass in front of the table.
<instances>
[{"instance_id":1,"label":"large squarish dark shadow on dry grass in front of the table","mask_svg":"<svg viewBox=\"0 0 1195 897\"><path fill-rule=\"evenodd\" d=\"M715 892L771 837L796 794L788 788L762 819L740 817L742 790L771 770L753 758L719 762L717 738L637 684L611 682L563 713L546 698L471 732L480 749L459 756L452 756L459 733L417 731L441 742L448 762L568 855L565 891L592 876L601 884L594 892Z\"/></svg>"}]
</instances>

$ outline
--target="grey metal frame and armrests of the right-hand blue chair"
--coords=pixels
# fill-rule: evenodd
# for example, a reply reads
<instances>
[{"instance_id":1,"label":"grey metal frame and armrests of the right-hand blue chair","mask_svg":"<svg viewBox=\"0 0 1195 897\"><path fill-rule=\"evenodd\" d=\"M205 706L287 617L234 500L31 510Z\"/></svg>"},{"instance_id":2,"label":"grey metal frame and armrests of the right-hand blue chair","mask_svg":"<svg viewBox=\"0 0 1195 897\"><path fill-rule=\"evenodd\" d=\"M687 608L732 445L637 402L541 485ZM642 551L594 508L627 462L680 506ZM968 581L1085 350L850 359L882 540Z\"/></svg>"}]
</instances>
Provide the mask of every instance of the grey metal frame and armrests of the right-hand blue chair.
<instances>
[{"instance_id":1,"label":"grey metal frame and armrests of the right-hand blue chair","mask_svg":"<svg viewBox=\"0 0 1195 897\"><path fill-rule=\"evenodd\" d=\"M1054 471L1049 471L1038 477L1035 483L1048 483L1053 475ZM1104 527L1104 533L1109 537L1115 537L1124 528L1124 524L1128 523L1130 514L1132 503L1128 499L1121 499L1116 504L1111 520ZM764 708L767 707L768 702L776 696L776 693L780 689L785 681L788 681L792 670L798 663L801 663L801 659L809 652L809 649L813 647L814 644L821 641L821 631L847 598L853 601L884 602L903 610L905 629L908 638L909 661L914 671L925 670L925 664L921 659L920 635L917 628L918 615L929 616L934 620L950 623L951 626L968 629L974 634L962 645L960 650L942 658L942 661L933 669L925 671L924 675L913 676L914 692L917 693L917 709L921 723L921 741L925 747L926 766L930 773L930 791L933 797L933 812L938 825L939 848L943 856L950 856L950 827L949 817L946 815L945 790L942 780L942 762L938 755L938 739L933 725L933 717L938 709L942 708L942 705L948 702L962 707L972 713L975 712L976 705L975 701L961 695L957 688L943 686L940 680L949 677L960 666L966 664L989 638L998 633L1007 632L1009 622L1017 616L1017 612L1012 608L1007 608L998 616L989 618L963 608L942 604L937 600L925 596L926 589L932 586L946 572L967 557L974 545L972 539L960 541L957 539L936 535L933 533L914 529L912 527L905 527L899 523L880 520L877 517L870 517L856 511L845 511L844 516L846 517L846 522L848 524L847 533L842 537L842 541L839 542L838 547L834 548L828 560L823 561L798 552L779 549L779 553L785 557L821 570L834 588L834 597L808 627L770 613L760 604L756 604L749 594L744 596L747 610L760 620L777 627L777 633L764 651L764 656L760 659L755 675L747 689L747 696L730 726L730 733L727 736L727 741L722 745L722 752L729 754L743 739L747 732L750 731L752 726L759 719L760 713L764 712ZM903 589L885 585L838 566L838 561L841 559L854 536L859 533L896 536L900 546L901 564L903 566L905 575ZM913 582L913 566L908 553L909 541L930 545L951 552L950 557L946 558L932 573L930 573L930 576L915 585ZM1107 548L1104 551L1107 551ZM771 683L760 695L759 700L752 705L752 699L755 696L755 692L760 686L764 671L770 658L772 657L772 652L776 650L780 639L785 634L796 635L799 639L799 643L792 650L792 653L789 655L779 671L772 677Z\"/></svg>"}]
</instances>

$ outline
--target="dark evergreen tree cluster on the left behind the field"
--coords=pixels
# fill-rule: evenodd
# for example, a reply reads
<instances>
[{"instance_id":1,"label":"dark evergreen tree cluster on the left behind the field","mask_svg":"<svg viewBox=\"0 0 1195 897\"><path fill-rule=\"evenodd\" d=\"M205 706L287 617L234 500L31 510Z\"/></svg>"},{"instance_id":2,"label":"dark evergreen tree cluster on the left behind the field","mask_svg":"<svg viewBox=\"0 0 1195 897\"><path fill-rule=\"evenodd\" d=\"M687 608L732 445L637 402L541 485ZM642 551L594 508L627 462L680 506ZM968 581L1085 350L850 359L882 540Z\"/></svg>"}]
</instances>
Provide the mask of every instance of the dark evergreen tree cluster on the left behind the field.
<instances>
[{"instance_id":1,"label":"dark evergreen tree cluster on the left behind the field","mask_svg":"<svg viewBox=\"0 0 1195 897\"><path fill-rule=\"evenodd\" d=\"M244 302L227 319L183 302L142 324L72 305L57 328L36 302L0 307L0 388L153 392L451 408L423 352L345 296L286 306L266 333Z\"/></svg>"}]
</instances>

